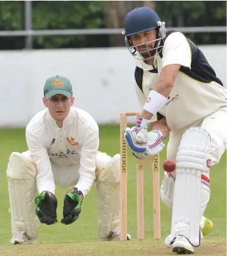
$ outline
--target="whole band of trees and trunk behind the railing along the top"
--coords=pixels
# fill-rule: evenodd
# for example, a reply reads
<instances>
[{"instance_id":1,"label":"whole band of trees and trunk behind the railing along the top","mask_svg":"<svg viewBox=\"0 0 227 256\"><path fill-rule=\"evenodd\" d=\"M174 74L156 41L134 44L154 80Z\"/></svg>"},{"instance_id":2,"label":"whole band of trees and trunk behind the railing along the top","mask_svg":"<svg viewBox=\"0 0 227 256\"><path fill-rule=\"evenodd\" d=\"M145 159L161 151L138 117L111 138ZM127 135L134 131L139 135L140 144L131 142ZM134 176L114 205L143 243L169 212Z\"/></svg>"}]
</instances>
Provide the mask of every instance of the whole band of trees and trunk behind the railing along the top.
<instances>
[{"instance_id":1,"label":"whole band of trees and trunk behind the railing along the top","mask_svg":"<svg viewBox=\"0 0 227 256\"><path fill-rule=\"evenodd\" d=\"M25 1L0 1L0 30L24 29ZM33 29L124 28L135 7L155 8L166 27L226 26L226 1L32 1ZM195 43L226 43L226 33L187 34ZM124 46L118 35L35 36L35 49ZM2 37L0 49L23 49L25 38Z\"/></svg>"}]
</instances>

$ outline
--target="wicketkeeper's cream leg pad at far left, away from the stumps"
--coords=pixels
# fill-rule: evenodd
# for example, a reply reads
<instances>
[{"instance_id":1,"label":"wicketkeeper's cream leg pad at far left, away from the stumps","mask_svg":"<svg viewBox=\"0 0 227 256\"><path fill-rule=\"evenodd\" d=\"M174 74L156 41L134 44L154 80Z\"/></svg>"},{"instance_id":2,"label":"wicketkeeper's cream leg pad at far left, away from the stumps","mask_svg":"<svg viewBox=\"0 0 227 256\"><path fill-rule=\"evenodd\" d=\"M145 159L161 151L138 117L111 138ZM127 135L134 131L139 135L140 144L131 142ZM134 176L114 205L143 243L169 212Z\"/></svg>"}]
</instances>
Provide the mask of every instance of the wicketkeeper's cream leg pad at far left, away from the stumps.
<instances>
[{"instance_id":1,"label":"wicketkeeper's cream leg pad at far left, away from the stumps","mask_svg":"<svg viewBox=\"0 0 227 256\"><path fill-rule=\"evenodd\" d=\"M10 197L11 230L24 230L31 239L38 236L34 197L36 196L36 167L22 154L13 152L8 169L8 191Z\"/></svg>"}]
</instances>

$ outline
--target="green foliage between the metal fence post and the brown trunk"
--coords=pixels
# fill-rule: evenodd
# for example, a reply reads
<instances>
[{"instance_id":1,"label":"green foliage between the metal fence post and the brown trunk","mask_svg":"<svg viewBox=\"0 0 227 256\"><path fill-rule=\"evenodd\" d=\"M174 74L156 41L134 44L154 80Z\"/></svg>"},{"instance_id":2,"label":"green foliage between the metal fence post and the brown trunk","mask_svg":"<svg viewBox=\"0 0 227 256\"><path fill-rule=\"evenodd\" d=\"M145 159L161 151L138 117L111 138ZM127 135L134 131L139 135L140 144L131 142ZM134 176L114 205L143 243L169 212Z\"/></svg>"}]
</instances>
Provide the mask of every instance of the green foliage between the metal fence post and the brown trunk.
<instances>
[{"instance_id":1,"label":"green foliage between the metal fence post and the brown trunk","mask_svg":"<svg viewBox=\"0 0 227 256\"><path fill-rule=\"evenodd\" d=\"M105 27L103 22L103 1L34 1L33 29L92 29ZM93 45L101 45L94 38L80 36L39 36L34 39L34 45L40 48L86 47L92 41ZM97 42L98 41L98 42Z\"/></svg>"}]
</instances>

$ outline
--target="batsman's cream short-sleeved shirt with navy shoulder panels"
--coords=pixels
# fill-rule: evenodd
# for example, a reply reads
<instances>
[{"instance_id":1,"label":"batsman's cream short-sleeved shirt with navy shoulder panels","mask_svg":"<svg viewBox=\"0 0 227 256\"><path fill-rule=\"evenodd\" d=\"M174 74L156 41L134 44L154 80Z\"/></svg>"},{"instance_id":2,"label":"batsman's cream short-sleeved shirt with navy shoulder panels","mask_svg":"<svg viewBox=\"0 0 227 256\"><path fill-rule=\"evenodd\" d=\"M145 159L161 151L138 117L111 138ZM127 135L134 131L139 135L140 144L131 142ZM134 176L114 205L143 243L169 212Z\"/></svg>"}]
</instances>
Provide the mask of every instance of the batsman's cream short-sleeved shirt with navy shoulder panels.
<instances>
[{"instance_id":1,"label":"batsman's cream short-sleeved shirt with navy shoulder panels","mask_svg":"<svg viewBox=\"0 0 227 256\"><path fill-rule=\"evenodd\" d=\"M136 94L142 109L161 69L169 64L181 65L168 102L159 110L170 130L186 128L226 106L226 88L201 50L184 34L170 33L161 54L163 57L157 56L154 66L143 61L136 63ZM157 117L151 121L157 121Z\"/></svg>"}]
</instances>

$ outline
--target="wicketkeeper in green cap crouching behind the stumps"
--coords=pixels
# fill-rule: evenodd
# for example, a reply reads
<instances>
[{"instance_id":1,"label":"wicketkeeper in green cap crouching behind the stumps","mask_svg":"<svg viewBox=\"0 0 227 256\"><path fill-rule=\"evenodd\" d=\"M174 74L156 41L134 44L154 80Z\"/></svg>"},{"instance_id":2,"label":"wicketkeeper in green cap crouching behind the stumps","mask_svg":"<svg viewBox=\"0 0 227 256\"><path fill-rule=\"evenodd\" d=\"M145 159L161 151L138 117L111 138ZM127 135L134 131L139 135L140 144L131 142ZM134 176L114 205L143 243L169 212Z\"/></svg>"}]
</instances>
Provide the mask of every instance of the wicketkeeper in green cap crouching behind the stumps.
<instances>
[{"instance_id":1,"label":"wicketkeeper in green cap crouching behind the stumps","mask_svg":"<svg viewBox=\"0 0 227 256\"><path fill-rule=\"evenodd\" d=\"M43 88L47 108L26 127L28 150L11 153L6 171L10 197L10 243L35 243L38 224L74 223L83 214L85 196L96 183L98 237L119 240L120 155L98 151L99 129L92 116L73 107L71 82L50 77ZM57 216L55 184L66 191ZM128 239L130 236L128 235Z\"/></svg>"}]
</instances>

